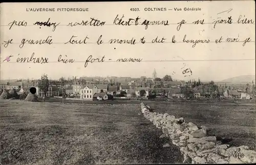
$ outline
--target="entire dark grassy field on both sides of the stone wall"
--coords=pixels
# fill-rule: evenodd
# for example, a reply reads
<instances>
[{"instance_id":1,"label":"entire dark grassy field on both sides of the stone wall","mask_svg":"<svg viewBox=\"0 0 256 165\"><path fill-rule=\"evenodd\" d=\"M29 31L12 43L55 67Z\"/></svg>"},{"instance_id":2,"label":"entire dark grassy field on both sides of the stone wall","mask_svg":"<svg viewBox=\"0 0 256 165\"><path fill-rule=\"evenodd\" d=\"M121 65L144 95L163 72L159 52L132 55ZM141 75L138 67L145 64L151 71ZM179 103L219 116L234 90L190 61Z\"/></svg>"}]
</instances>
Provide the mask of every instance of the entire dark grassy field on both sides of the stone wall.
<instances>
[{"instance_id":1,"label":"entire dark grassy field on both sides of the stone wall","mask_svg":"<svg viewBox=\"0 0 256 165\"><path fill-rule=\"evenodd\" d=\"M183 117L198 126L205 125L211 129L210 135L232 137L233 140L228 143L232 146L247 145L256 150L255 106L163 102L147 104L155 112ZM139 105L75 106L0 100L0 107L2 164L182 162L176 146L169 143L169 148L162 147L169 141L159 139L161 130L138 115ZM18 159L11 155L14 148L23 151Z\"/></svg>"}]
</instances>

